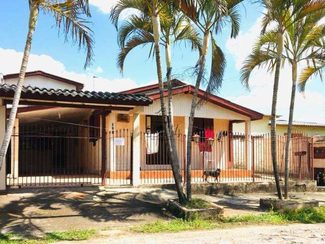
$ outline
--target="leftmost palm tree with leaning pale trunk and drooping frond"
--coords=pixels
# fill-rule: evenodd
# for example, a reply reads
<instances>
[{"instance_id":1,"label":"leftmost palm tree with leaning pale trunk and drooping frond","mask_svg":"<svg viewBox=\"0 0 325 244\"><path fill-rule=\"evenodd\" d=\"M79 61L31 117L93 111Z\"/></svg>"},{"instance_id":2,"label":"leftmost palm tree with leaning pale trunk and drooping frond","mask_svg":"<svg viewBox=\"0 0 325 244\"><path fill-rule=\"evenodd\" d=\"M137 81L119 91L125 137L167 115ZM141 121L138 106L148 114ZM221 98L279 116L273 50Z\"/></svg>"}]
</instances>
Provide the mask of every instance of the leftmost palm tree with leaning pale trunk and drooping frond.
<instances>
[{"instance_id":1,"label":"leftmost palm tree with leaning pale trunk and drooping frond","mask_svg":"<svg viewBox=\"0 0 325 244\"><path fill-rule=\"evenodd\" d=\"M14 121L19 104L21 89L28 64L32 37L35 32L40 10L44 13L51 14L54 17L56 26L59 30L62 29L64 35L66 36L66 40L70 37L74 43L78 44L79 49L81 47L85 48L86 62L84 68L90 65L93 55L93 39L91 36L91 30L87 27L87 22L83 18L83 16L90 17L88 0L28 0L28 3L28 33L22 63L19 71L18 82L16 85L15 95L7 124L7 130L0 149L0 170L2 168L2 164L7 153L11 133L14 127Z\"/></svg>"}]
</instances>

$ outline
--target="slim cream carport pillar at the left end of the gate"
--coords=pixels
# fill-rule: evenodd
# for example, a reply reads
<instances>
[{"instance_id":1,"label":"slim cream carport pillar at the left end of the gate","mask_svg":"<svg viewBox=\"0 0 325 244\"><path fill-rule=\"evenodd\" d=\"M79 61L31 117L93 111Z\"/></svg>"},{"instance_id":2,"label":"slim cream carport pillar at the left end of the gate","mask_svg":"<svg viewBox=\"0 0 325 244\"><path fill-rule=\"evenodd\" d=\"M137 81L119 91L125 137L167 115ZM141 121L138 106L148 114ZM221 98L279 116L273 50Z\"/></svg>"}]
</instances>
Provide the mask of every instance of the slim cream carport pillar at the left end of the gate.
<instances>
[{"instance_id":1,"label":"slim cream carport pillar at the left end of the gate","mask_svg":"<svg viewBox=\"0 0 325 244\"><path fill-rule=\"evenodd\" d=\"M12 178L18 177L18 155L19 155L19 118L15 119L14 131L15 135L11 140L11 175Z\"/></svg>"}]
</instances>

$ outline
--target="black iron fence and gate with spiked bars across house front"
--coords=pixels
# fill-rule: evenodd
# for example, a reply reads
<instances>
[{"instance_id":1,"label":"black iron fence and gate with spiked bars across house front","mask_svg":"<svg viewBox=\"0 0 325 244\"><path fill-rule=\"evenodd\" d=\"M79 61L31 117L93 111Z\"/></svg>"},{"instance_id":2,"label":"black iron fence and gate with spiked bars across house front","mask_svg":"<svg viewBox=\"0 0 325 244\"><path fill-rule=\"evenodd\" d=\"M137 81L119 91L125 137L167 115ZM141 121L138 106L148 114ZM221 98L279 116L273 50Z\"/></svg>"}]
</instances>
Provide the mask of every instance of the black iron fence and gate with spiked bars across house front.
<instances>
[{"instance_id":1,"label":"black iron fence and gate with spiked bars across house front","mask_svg":"<svg viewBox=\"0 0 325 244\"><path fill-rule=\"evenodd\" d=\"M163 131L140 133L133 151L133 132L87 126L20 126L14 128L7 154L8 186L132 185L133 155L140 157L141 184L173 184ZM186 181L186 135L176 134L178 161ZM284 177L286 136L277 136L277 163ZM105 143L103 143L105 142ZM311 138L295 133L290 141L289 177L313 178ZM104 155L103 155L104 154ZM273 180L271 137L247 137L218 131L196 132L191 149L192 182Z\"/></svg>"}]
</instances>

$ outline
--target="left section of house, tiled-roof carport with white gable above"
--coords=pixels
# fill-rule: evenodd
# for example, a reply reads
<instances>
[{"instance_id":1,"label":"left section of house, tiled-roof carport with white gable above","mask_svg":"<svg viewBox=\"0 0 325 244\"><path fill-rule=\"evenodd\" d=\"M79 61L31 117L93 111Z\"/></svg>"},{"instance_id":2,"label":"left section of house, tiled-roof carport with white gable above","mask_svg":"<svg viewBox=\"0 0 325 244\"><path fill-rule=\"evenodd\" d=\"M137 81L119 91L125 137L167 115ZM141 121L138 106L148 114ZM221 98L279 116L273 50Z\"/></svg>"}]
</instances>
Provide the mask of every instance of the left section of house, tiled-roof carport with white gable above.
<instances>
[{"instance_id":1,"label":"left section of house, tiled-roof carport with white gable above","mask_svg":"<svg viewBox=\"0 0 325 244\"><path fill-rule=\"evenodd\" d=\"M0 141L17 80L18 74L5 75L0 84ZM81 185L105 184L107 115L152 103L142 95L83 91L82 83L41 71L27 72L25 84L0 190L77 184L77 179Z\"/></svg>"}]
</instances>

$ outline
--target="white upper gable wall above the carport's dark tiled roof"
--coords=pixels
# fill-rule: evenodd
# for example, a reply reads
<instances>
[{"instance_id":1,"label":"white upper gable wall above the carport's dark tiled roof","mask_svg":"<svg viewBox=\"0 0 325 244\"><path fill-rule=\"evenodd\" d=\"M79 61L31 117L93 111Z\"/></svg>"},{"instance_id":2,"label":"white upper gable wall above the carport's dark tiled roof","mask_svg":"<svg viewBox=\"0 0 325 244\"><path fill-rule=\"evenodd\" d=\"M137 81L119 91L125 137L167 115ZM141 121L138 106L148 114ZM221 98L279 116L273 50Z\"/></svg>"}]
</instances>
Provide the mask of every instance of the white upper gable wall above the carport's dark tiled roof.
<instances>
[{"instance_id":1,"label":"white upper gable wall above the carport's dark tiled roof","mask_svg":"<svg viewBox=\"0 0 325 244\"><path fill-rule=\"evenodd\" d=\"M5 83L9 85L17 84L18 78L5 79ZM75 85L68 84L62 81L44 77L41 75L27 76L24 80L24 86L36 86L39 88L53 88L53 89L76 89Z\"/></svg>"}]
</instances>

